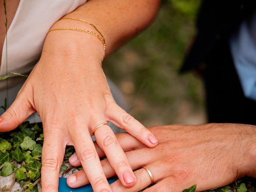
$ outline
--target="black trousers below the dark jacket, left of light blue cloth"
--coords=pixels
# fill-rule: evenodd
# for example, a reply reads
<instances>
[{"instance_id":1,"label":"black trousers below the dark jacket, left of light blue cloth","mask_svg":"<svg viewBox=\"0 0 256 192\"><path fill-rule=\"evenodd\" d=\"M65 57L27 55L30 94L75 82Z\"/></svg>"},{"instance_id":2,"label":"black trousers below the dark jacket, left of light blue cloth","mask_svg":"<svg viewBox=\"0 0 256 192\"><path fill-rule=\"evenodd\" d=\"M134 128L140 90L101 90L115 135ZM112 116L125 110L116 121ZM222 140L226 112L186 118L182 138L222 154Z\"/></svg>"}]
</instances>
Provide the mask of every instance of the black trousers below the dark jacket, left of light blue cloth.
<instances>
[{"instance_id":1,"label":"black trousers below the dark jacket, left of light blue cloth","mask_svg":"<svg viewBox=\"0 0 256 192\"><path fill-rule=\"evenodd\" d=\"M208 122L256 125L256 101L245 98L228 42L206 58L204 83Z\"/></svg>"}]
</instances>

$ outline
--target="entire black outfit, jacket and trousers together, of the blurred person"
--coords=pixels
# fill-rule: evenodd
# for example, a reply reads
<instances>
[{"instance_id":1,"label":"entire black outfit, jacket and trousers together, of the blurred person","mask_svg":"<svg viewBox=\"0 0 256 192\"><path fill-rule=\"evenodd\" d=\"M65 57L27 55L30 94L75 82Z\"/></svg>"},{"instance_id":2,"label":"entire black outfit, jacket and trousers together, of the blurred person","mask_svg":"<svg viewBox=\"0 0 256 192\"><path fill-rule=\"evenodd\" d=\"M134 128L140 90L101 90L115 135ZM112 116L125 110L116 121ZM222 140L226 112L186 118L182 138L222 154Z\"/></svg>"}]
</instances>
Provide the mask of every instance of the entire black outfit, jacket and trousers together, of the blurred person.
<instances>
[{"instance_id":1,"label":"entire black outfit, jacket and trousers together, of the blurred person","mask_svg":"<svg viewBox=\"0 0 256 192\"><path fill-rule=\"evenodd\" d=\"M198 33L181 72L197 70L204 77L208 122L256 125L256 102L245 98L228 46L242 21L250 24L256 0L204 0Z\"/></svg>"}]
</instances>

